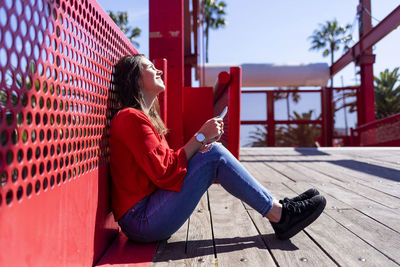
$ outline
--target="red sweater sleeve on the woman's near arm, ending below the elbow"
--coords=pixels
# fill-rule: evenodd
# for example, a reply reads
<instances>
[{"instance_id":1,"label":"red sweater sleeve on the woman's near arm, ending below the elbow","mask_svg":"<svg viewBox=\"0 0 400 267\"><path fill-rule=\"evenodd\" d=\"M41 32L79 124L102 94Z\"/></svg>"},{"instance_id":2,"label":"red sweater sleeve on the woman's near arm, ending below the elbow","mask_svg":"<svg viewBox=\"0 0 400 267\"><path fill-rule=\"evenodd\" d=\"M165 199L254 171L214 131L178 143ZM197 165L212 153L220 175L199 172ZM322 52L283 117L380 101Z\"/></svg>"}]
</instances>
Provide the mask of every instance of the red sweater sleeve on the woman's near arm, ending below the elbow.
<instances>
[{"instance_id":1,"label":"red sweater sleeve on the woman's near arm, ending below the elbow","mask_svg":"<svg viewBox=\"0 0 400 267\"><path fill-rule=\"evenodd\" d=\"M179 191L187 171L183 147L175 151L163 145L144 113L130 110L121 115L118 123L120 141L127 146L140 168L156 186Z\"/></svg>"}]
</instances>

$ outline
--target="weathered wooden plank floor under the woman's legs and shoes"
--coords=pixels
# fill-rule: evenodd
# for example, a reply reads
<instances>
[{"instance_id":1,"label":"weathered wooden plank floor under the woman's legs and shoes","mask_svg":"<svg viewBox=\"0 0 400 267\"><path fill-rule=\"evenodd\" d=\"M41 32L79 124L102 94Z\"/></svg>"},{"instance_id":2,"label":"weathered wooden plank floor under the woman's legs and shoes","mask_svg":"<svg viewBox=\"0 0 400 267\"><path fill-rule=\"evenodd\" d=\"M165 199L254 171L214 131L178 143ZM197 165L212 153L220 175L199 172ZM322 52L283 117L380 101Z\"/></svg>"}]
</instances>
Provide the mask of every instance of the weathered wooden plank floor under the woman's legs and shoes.
<instances>
[{"instance_id":1,"label":"weathered wooden plank floor under the woman's legs and shoes","mask_svg":"<svg viewBox=\"0 0 400 267\"><path fill-rule=\"evenodd\" d=\"M243 148L241 162L281 199L316 187L322 215L288 241L212 185L161 242L154 266L399 266L400 148Z\"/></svg>"}]
</instances>

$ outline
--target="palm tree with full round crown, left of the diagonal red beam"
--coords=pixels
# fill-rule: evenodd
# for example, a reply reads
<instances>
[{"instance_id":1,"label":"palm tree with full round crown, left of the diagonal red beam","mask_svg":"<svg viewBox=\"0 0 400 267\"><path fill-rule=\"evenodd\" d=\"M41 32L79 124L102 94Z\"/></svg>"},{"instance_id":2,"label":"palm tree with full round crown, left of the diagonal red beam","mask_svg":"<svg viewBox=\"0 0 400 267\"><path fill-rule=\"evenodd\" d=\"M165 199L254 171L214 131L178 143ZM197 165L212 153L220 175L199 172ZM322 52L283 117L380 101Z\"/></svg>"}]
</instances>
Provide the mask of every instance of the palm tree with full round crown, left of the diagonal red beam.
<instances>
[{"instance_id":1,"label":"palm tree with full round crown, left of the diagonal red beam","mask_svg":"<svg viewBox=\"0 0 400 267\"><path fill-rule=\"evenodd\" d=\"M350 24L339 26L336 19L327 21L326 24L319 24L319 29L309 37L311 39L310 50L321 50L322 56L331 55L331 66L334 62L334 53L343 45L343 49L349 49L349 43L352 41L352 36L348 34ZM331 78L331 86L333 87L333 78Z\"/></svg>"}]
</instances>

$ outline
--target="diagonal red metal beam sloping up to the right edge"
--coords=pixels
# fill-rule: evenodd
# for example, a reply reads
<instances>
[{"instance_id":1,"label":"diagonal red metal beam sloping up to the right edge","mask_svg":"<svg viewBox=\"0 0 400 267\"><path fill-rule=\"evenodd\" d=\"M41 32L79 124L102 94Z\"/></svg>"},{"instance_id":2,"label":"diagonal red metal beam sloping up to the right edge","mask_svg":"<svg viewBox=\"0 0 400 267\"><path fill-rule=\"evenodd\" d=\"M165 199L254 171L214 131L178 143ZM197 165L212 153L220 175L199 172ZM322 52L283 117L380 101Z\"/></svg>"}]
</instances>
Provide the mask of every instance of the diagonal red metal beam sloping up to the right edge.
<instances>
[{"instance_id":1,"label":"diagonal red metal beam sloping up to the right edge","mask_svg":"<svg viewBox=\"0 0 400 267\"><path fill-rule=\"evenodd\" d=\"M388 35L391 31L400 25L400 5L395 8L386 18L378 25L372 28L363 38L350 48L340 59L331 66L331 76L335 75L346 67L350 62L356 60L363 50L371 48L374 44Z\"/></svg>"}]
</instances>

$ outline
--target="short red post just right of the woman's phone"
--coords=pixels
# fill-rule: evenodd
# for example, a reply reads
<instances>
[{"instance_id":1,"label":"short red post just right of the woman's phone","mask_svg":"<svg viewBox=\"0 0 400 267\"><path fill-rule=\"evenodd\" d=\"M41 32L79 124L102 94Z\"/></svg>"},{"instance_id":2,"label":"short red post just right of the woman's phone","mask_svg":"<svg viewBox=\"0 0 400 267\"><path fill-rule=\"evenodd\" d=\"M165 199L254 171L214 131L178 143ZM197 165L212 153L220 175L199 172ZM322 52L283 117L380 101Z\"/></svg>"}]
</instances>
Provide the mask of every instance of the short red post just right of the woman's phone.
<instances>
[{"instance_id":1,"label":"short red post just right of the woman's phone","mask_svg":"<svg viewBox=\"0 0 400 267\"><path fill-rule=\"evenodd\" d=\"M242 87L242 69L231 67L231 83L229 90L229 136L228 149L239 159L240 150L240 93Z\"/></svg>"}]
</instances>

